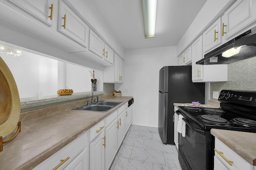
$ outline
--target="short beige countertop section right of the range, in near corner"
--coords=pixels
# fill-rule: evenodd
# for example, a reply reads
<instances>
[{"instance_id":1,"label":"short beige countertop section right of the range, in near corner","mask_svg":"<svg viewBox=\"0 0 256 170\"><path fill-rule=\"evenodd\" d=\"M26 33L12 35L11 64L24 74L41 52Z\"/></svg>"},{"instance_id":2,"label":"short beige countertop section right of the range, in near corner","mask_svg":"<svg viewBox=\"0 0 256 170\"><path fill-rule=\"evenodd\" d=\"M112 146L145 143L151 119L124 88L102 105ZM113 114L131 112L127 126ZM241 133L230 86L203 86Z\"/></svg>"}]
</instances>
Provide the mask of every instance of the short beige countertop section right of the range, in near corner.
<instances>
[{"instance_id":1,"label":"short beige countertop section right of the range, in near corner","mask_svg":"<svg viewBox=\"0 0 256 170\"><path fill-rule=\"evenodd\" d=\"M244 160L256 166L256 133L211 129L211 134Z\"/></svg>"}]
</instances>

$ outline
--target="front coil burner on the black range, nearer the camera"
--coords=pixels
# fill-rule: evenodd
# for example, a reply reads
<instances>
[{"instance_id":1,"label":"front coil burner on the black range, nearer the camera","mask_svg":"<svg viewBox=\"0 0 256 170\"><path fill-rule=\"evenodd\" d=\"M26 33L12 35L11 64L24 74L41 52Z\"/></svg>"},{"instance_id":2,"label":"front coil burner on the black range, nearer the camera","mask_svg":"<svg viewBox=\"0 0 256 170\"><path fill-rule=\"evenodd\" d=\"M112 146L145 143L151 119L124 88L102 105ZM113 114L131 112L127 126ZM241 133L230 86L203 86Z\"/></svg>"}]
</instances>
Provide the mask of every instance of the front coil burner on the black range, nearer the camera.
<instances>
[{"instance_id":1,"label":"front coil burner on the black range, nearer the camera","mask_svg":"<svg viewBox=\"0 0 256 170\"><path fill-rule=\"evenodd\" d=\"M198 117L200 117L202 121L206 123L214 124L214 125L225 125L225 126L233 125L230 121L222 117L218 117L216 115L199 115Z\"/></svg>"}]
</instances>

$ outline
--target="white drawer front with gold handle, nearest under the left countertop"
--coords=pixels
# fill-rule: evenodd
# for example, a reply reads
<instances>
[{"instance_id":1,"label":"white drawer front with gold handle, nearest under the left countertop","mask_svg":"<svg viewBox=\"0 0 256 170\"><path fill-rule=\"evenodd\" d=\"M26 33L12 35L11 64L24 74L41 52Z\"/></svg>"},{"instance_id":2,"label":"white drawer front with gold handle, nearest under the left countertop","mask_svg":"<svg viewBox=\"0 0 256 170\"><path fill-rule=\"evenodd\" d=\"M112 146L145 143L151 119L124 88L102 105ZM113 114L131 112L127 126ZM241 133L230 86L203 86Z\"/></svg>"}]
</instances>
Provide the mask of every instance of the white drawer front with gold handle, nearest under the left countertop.
<instances>
[{"instance_id":1,"label":"white drawer front with gold handle, nearest under the left countertop","mask_svg":"<svg viewBox=\"0 0 256 170\"><path fill-rule=\"evenodd\" d=\"M44 160L33 170L45 170L53 169L61 160L66 160L58 169L64 169L72 160L76 158L84 149L88 147L88 132L83 133L80 137L66 145L64 148L60 149L58 152ZM69 158L68 158L69 157Z\"/></svg>"}]
</instances>

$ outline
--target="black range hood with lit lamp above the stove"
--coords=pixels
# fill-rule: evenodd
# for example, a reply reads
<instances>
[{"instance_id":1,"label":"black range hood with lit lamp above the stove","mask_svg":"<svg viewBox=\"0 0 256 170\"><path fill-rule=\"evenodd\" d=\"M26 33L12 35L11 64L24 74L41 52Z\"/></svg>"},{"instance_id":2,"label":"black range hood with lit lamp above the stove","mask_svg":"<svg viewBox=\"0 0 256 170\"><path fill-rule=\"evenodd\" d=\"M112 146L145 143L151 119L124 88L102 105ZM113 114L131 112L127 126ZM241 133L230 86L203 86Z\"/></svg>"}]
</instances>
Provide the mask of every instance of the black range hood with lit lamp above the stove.
<instances>
[{"instance_id":1,"label":"black range hood with lit lamp above the stove","mask_svg":"<svg viewBox=\"0 0 256 170\"><path fill-rule=\"evenodd\" d=\"M231 50L234 53L231 55L225 55L226 53L224 52L228 50ZM230 64L254 56L256 56L256 27L253 27L252 29L238 35L234 39L231 39L220 47L217 47L205 54L204 58L197 61L196 64Z\"/></svg>"}]
</instances>

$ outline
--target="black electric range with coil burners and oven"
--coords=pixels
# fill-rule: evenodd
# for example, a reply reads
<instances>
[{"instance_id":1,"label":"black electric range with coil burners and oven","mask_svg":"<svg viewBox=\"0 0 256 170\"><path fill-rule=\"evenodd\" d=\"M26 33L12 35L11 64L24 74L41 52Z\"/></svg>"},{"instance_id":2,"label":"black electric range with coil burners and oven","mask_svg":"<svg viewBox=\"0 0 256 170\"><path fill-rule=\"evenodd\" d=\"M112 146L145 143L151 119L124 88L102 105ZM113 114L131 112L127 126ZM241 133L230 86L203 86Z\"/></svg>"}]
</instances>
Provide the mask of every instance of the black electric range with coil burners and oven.
<instances>
[{"instance_id":1,"label":"black electric range with coil burners and oven","mask_svg":"<svg viewBox=\"0 0 256 170\"><path fill-rule=\"evenodd\" d=\"M210 129L256 133L256 92L222 90L218 100L220 108L179 106L176 111L186 122L186 136L179 133L178 143L179 160L188 170L214 169Z\"/></svg>"}]
</instances>

